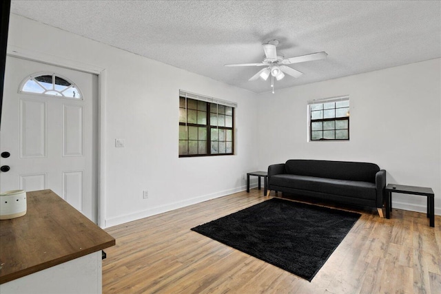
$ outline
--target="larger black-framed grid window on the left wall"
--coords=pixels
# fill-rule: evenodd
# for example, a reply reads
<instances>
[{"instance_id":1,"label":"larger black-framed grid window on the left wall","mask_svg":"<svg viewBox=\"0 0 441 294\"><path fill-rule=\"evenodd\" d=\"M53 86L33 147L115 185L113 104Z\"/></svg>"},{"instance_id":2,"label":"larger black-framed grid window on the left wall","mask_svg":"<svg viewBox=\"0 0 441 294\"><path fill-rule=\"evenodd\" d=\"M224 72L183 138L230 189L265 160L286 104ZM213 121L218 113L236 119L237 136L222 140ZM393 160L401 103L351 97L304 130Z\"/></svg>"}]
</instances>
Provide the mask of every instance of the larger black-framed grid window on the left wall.
<instances>
[{"instance_id":1,"label":"larger black-framed grid window on the left wall","mask_svg":"<svg viewBox=\"0 0 441 294\"><path fill-rule=\"evenodd\" d=\"M235 103L180 91L179 157L234 154Z\"/></svg>"}]
</instances>

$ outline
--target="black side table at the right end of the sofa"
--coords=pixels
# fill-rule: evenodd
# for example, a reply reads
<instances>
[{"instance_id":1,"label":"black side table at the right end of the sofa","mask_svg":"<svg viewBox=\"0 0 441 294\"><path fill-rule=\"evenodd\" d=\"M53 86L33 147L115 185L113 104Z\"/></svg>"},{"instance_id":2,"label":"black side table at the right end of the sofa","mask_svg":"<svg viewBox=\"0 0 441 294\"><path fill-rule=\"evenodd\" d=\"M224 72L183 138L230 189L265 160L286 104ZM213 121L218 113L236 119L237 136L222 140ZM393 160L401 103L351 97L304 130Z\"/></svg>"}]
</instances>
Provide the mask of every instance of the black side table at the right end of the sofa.
<instances>
[{"instance_id":1,"label":"black side table at the right end of the sofa","mask_svg":"<svg viewBox=\"0 0 441 294\"><path fill-rule=\"evenodd\" d=\"M391 217L392 211L392 193L413 194L427 197L427 218L429 218L430 227L435 227L435 194L432 188L404 186L396 184L387 184L386 186L386 218Z\"/></svg>"}]
</instances>

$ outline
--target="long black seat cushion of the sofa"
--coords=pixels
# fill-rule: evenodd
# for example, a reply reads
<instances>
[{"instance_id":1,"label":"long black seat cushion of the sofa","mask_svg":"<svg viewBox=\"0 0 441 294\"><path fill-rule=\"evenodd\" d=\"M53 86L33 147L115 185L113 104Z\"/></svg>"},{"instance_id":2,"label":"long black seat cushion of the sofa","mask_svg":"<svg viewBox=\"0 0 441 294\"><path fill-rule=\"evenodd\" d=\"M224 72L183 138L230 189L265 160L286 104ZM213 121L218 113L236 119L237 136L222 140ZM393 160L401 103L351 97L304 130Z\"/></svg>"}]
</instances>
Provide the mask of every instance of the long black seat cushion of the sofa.
<instances>
[{"instance_id":1,"label":"long black seat cushion of the sofa","mask_svg":"<svg viewBox=\"0 0 441 294\"><path fill-rule=\"evenodd\" d=\"M371 182L278 174L271 176L271 187L274 186L362 199L376 199L376 185Z\"/></svg>"}]
</instances>

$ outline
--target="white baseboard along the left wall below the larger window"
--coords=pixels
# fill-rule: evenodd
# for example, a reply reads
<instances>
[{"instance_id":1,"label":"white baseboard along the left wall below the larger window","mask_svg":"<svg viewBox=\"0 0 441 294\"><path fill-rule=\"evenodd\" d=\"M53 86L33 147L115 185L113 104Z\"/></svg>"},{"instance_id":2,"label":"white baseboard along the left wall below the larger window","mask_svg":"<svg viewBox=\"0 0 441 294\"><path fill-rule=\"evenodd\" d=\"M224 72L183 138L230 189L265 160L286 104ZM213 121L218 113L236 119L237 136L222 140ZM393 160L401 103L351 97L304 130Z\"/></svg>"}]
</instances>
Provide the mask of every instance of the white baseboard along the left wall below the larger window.
<instances>
[{"instance_id":1,"label":"white baseboard along the left wall below the larger window","mask_svg":"<svg viewBox=\"0 0 441 294\"><path fill-rule=\"evenodd\" d=\"M250 187L250 189L255 188L255 187L257 187L257 183L256 184L250 183L249 187ZM113 227L113 226L116 226L118 224L123 224L125 222L132 222L133 220L139 220L141 218L147 218L149 216L154 216L154 215L159 214L159 213L164 213L164 212L167 212L167 211L172 211L174 209L179 209L179 208L182 208L182 207L187 207L189 205L200 203L200 202L207 201L207 200L211 200L211 199L214 199L214 198L219 198L219 197L222 197L222 196L227 196L227 195L232 194L232 193L237 193L237 192L240 192L240 191L245 191L246 189L247 189L246 186L240 186L240 187L236 187L236 188L233 188L233 189L227 189L227 190L224 190L224 191L219 191L219 192L216 192L216 193L207 194L207 195L204 195L204 196L199 196L199 197L195 197L195 198L191 198L191 199L187 199L187 200L183 200L183 201L178 201L178 202L174 202L174 203L170 203L170 204L161 205L161 206L158 206L158 207L154 207L152 209L147 209L147 210L144 210L144 211L138 211L136 213L126 214L124 216L117 216L116 218L107 218L107 219L105 219L103 229L108 228L108 227Z\"/></svg>"}]
</instances>

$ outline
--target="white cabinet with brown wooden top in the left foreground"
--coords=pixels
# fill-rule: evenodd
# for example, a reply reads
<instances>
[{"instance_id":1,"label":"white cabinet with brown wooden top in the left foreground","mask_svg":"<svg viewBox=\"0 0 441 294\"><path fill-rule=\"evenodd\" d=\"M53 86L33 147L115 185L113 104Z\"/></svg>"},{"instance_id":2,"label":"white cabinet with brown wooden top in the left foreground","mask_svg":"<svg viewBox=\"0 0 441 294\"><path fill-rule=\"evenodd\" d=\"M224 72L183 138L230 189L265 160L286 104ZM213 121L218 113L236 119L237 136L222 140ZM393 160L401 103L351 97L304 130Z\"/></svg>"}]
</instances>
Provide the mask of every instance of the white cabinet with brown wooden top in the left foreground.
<instances>
[{"instance_id":1,"label":"white cabinet with brown wooden top in the left foreground","mask_svg":"<svg viewBox=\"0 0 441 294\"><path fill-rule=\"evenodd\" d=\"M115 239L51 190L26 193L0 220L0 293L101 293L101 251Z\"/></svg>"}]
</instances>

